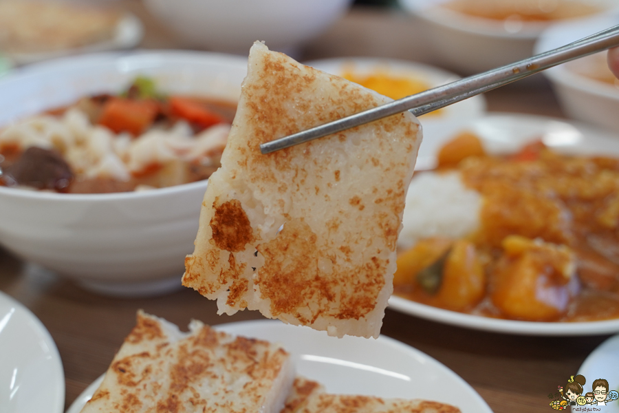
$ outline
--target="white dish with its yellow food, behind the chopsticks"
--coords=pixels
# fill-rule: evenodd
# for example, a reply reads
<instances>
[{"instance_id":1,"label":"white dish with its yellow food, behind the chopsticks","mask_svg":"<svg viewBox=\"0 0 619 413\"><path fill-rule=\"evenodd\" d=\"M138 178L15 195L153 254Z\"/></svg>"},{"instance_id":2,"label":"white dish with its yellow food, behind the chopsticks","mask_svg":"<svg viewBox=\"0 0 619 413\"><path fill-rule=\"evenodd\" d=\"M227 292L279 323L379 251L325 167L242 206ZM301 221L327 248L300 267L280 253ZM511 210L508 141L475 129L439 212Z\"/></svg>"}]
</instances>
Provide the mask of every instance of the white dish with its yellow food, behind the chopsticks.
<instances>
[{"instance_id":1,"label":"white dish with its yellow food, behind the chopsticks","mask_svg":"<svg viewBox=\"0 0 619 413\"><path fill-rule=\"evenodd\" d=\"M304 64L356 81L393 99L423 92L460 78L457 74L438 67L398 59L345 57L309 61ZM486 112L486 98L478 95L422 115L420 121L424 127L445 121L465 123L484 112Z\"/></svg>"}]
</instances>

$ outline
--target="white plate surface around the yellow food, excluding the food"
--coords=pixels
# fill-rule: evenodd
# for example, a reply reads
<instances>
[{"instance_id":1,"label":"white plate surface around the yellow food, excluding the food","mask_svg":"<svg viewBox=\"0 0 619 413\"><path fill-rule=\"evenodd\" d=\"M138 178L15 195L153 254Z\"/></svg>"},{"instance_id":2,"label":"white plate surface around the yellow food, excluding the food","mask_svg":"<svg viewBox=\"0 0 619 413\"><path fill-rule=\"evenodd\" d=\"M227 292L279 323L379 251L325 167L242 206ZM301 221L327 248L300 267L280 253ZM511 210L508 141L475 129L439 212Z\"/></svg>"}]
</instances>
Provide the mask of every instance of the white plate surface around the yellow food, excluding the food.
<instances>
[{"instance_id":1,"label":"white plate surface around the yellow food, excluding the food","mask_svg":"<svg viewBox=\"0 0 619 413\"><path fill-rule=\"evenodd\" d=\"M438 67L398 59L346 57L342 59L309 61L304 64L338 76L341 76L349 67L357 74L370 74L377 68L386 69L397 76L418 78L428 83L430 87L445 85L460 78L457 74L447 72ZM444 120L461 120L464 122L484 112L486 112L486 99L484 96L478 95L445 107L440 114L421 116L420 120L423 125L442 123Z\"/></svg>"}]
</instances>

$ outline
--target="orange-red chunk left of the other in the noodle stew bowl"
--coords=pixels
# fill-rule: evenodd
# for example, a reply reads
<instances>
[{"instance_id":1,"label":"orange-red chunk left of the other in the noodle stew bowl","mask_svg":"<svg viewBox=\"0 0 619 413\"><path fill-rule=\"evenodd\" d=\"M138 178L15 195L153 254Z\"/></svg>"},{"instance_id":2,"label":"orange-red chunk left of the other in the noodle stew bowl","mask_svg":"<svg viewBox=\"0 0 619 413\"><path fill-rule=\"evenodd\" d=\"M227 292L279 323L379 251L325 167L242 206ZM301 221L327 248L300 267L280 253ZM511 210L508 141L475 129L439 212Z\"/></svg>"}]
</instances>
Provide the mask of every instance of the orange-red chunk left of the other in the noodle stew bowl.
<instances>
[{"instance_id":1,"label":"orange-red chunk left of the other in the noodle stew bowl","mask_svg":"<svg viewBox=\"0 0 619 413\"><path fill-rule=\"evenodd\" d=\"M98 124L117 134L139 136L151 126L158 112L159 105L153 100L112 98L105 103Z\"/></svg>"}]
</instances>

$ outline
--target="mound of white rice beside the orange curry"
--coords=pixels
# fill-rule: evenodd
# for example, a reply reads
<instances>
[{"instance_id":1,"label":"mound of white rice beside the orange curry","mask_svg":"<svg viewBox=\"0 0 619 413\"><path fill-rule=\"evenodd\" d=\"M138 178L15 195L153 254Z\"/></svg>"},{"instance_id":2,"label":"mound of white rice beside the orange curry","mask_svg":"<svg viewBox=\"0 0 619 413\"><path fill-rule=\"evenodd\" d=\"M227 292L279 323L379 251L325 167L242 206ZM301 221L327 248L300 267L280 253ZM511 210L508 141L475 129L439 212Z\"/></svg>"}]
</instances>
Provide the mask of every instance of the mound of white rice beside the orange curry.
<instances>
[{"instance_id":1,"label":"mound of white rice beside the orange curry","mask_svg":"<svg viewBox=\"0 0 619 413\"><path fill-rule=\"evenodd\" d=\"M479 228L481 195L464 186L459 173L415 175L406 194L398 248L428 237L466 237Z\"/></svg>"}]
</instances>

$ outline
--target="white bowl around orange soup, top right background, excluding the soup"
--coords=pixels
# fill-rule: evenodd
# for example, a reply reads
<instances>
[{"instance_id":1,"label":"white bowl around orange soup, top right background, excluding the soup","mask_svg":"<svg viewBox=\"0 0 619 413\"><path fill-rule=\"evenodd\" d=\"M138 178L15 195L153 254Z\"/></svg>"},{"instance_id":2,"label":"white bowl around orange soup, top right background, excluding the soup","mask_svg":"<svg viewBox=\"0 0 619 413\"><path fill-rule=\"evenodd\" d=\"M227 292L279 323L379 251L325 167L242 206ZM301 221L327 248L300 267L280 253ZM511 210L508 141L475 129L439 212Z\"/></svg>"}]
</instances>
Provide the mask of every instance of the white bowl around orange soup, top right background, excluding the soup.
<instances>
[{"instance_id":1,"label":"white bowl around orange soup, top right background, excluding the soup","mask_svg":"<svg viewBox=\"0 0 619 413\"><path fill-rule=\"evenodd\" d=\"M466 74L485 72L532 56L536 39L548 26L531 21L484 19L439 7L446 1L400 0L400 4L420 19L437 59ZM600 14L617 7L613 0L586 3L600 6Z\"/></svg>"}]
</instances>

